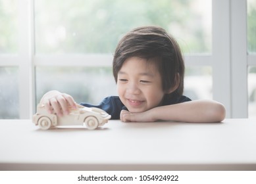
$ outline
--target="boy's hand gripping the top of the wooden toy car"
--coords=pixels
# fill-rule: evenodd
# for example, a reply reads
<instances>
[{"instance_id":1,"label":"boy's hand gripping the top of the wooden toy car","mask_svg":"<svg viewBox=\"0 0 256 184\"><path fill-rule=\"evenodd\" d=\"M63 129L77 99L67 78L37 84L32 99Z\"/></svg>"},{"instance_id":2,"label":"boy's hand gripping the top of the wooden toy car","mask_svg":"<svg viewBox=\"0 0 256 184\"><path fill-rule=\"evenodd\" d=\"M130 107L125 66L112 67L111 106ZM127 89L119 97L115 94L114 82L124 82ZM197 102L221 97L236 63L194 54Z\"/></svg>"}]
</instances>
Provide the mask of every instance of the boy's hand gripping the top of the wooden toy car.
<instances>
[{"instance_id":1,"label":"boy's hand gripping the top of the wooden toy car","mask_svg":"<svg viewBox=\"0 0 256 184\"><path fill-rule=\"evenodd\" d=\"M43 95L40 104L43 104L49 113L53 110L59 115L69 114L68 106L77 108L76 103L70 95L59 91L49 91Z\"/></svg>"}]
</instances>

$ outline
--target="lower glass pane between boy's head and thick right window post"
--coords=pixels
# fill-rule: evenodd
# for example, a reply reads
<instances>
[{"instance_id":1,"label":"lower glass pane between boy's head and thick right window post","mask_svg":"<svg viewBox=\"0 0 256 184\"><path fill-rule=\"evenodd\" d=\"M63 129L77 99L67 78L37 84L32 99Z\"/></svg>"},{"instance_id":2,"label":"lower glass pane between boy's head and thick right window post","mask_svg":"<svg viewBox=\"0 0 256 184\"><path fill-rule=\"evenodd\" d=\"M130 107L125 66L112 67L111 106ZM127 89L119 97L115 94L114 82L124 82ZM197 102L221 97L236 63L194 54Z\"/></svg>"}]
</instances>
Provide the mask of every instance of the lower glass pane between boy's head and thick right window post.
<instances>
[{"instance_id":1,"label":"lower glass pane between boy's head and thick right window post","mask_svg":"<svg viewBox=\"0 0 256 184\"><path fill-rule=\"evenodd\" d=\"M210 66L186 67L184 95L192 100L213 99L213 79Z\"/></svg>"}]
</instances>

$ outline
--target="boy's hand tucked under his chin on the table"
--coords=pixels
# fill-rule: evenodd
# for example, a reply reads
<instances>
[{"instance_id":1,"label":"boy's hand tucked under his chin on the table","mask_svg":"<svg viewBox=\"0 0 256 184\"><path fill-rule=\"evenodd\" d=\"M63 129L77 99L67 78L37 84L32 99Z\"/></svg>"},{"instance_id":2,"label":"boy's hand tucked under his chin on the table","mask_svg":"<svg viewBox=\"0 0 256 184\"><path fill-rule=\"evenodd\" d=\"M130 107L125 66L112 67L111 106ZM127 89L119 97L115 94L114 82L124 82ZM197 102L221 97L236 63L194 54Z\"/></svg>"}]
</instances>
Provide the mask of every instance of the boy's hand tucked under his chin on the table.
<instances>
[{"instance_id":1,"label":"boy's hand tucked under his chin on the table","mask_svg":"<svg viewBox=\"0 0 256 184\"><path fill-rule=\"evenodd\" d=\"M120 112L120 120L122 122L155 122L149 110L138 113L131 113L128 110L122 110Z\"/></svg>"}]
</instances>

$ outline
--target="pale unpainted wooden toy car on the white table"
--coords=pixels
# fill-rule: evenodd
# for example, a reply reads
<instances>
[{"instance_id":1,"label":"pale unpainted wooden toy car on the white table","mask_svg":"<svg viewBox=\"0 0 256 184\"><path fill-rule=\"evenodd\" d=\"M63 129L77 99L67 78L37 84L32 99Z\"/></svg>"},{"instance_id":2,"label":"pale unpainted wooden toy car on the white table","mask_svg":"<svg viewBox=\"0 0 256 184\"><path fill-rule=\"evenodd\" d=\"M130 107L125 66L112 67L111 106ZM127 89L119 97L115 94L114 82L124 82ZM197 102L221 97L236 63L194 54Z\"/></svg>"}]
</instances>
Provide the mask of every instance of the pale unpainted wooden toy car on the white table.
<instances>
[{"instance_id":1,"label":"pale unpainted wooden toy car on the white table","mask_svg":"<svg viewBox=\"0 0 256 184\"><path fill-rule=\"evenodd\" d=\"M50 114L43 104L38 104L37 112L32 117L32 122L41 129L49 129L54 126L86 126L95 129L103 126L111 118L100 108L88 108L77 104L77 108L69 108L69 114L58 116L55 112Z\"/></svg>"}]
</instances>

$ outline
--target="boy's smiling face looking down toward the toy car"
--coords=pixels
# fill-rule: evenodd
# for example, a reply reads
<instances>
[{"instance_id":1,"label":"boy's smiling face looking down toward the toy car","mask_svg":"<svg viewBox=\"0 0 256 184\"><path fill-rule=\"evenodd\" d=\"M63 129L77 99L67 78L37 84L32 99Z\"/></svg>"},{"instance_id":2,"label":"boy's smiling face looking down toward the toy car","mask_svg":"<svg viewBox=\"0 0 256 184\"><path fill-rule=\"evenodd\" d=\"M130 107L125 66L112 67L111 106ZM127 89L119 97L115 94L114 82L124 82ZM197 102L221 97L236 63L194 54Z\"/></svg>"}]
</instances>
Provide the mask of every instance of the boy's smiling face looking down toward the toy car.
<instances>
[{"instance_id":1,"label":"boy's smiling face looking down toward the toy car","mask_svg":"<svg viewBox=\"0 0 256 184\"><path fill-rule=\"evenodd\" d=\"M161 103L165 92L153 62L138 57L126 59L117 75L117 91L130 112L144 112Z\"/></svg>"}]
</instances>

